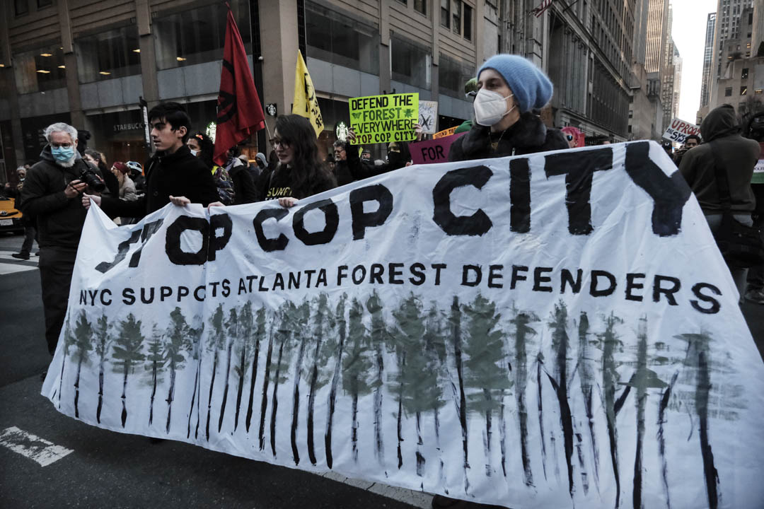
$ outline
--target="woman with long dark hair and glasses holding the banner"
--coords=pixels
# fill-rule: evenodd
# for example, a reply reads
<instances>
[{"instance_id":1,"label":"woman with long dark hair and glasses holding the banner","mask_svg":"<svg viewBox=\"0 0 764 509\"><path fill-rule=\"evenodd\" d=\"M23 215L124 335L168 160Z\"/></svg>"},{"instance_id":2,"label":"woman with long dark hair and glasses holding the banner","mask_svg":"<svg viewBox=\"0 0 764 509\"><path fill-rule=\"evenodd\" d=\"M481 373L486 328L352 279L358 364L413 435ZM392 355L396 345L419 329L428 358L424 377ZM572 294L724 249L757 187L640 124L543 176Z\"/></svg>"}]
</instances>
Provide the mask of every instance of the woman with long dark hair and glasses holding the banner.
<instances>
[{"instance_id":1,"label":"woman with long dark hair and glasses holding the banner","mask_svg":"<svg viewBox=\"0 0 764 509\"><path fill-rule=\"evenodd\" d=\"M291 207L300 198L337 186L332 172L319 158L316 131L307 118L281 115L276 120L271 144L279 163L260 179L266 200L278 198L280 205Z\"/></svg>"}]
</instances>

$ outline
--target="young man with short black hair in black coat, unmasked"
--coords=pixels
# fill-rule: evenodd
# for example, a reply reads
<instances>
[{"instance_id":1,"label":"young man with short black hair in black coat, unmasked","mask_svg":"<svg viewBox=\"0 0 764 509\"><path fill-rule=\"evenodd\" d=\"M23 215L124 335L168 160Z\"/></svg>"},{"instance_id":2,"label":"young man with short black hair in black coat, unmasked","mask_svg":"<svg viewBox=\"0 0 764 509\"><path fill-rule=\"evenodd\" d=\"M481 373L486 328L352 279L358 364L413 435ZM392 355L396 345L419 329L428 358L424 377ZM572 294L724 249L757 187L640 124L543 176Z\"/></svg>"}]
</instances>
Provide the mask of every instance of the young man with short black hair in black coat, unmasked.
<instances>
[{"instance_id":1,"label":"young man with short black hair in black coat, unmasked","mask_svg":"<svg viewBox=\"0 0 764 509\"><path fill-rule=\"evenodd\" d=\"M186 141L191 119L182 105L164 102L148 113L151 140L156 152L144 165L146 194L136 201L83 195L88 208L95 201L111 217L144 217L172 201L176 205L201 203L205 207L218 200L212 173L193 156Z\"/></svg>"}]
</instances>

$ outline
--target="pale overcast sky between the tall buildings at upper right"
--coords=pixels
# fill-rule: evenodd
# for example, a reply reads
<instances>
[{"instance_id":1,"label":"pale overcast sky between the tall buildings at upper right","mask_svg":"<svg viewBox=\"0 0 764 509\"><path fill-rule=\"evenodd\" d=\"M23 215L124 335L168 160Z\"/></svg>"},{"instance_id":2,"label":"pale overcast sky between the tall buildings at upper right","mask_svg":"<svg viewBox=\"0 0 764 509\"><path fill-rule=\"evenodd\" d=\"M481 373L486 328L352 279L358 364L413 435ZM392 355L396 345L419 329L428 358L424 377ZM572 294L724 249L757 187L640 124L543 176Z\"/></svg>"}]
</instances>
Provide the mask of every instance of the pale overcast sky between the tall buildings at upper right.
<instances>
[{"instance_id":1,"label":"pale overcast sky between the tall buildings at upper right","mask_svg":"<svg viewBox=\"0 0 764 509\"><path fill-rule=\"evenodd\" d=\"M701 78L706 21L709 12L716 12L716 0L671 0L673 7L672 37L681 55L681 92L679 118L694 122L701 105Z\"/></svg>"}]
</instances>

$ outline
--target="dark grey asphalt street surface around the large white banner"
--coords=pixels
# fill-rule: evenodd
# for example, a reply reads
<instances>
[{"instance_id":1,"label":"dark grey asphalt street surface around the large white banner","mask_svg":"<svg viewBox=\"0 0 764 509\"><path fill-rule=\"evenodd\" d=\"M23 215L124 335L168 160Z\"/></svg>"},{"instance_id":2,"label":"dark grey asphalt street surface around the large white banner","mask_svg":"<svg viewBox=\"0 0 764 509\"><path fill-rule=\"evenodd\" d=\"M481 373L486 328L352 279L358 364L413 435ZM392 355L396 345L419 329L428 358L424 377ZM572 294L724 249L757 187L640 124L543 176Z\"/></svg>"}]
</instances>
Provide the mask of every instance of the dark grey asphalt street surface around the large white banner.
<instances>
[{"instance_id":1,"label":"dark grey asphalt street surface around the large white banner","mask_svg":"<svg viewBox=\"0 0 764 509\"><path fill-rule=\"evenodd\" d=\"M22 262L10 256L21 240L0 234L0 506L430 507L431 496L423 493L169 440L152 443L60 414L40 395L40 374L50 356L37 258ZM764 306L746 303L743 314L764 356ZM3 443L11 436L23 437L15 443L27 454ZM50 461L46 466L40 454L37 461L28 454L39 449L55 451L43 461Z\"/></svg>"}]
</instances>

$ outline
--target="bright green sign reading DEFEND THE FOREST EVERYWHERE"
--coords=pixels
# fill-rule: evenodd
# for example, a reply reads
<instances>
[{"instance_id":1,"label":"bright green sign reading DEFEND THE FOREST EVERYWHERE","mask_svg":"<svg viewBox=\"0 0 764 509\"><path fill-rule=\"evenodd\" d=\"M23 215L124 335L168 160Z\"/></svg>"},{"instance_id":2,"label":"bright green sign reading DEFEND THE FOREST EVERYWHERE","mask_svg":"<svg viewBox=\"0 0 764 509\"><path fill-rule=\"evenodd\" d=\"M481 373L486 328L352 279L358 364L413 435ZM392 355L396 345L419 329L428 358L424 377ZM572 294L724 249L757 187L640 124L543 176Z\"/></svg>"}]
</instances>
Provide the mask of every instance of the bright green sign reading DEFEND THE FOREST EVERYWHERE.
<instances>
[{"instance_id":1,"label":"bright green sign reading DEFEND THE FOREST EVERYWHERE","mask_svg":"<svg viewBox=\"0 0 764 509\"><path fill-rule=\"evenodd\" d=\"M419 94L370 95L351 98L350 125L354 145L416 139Z\"/></svg>"}]
</instances>

